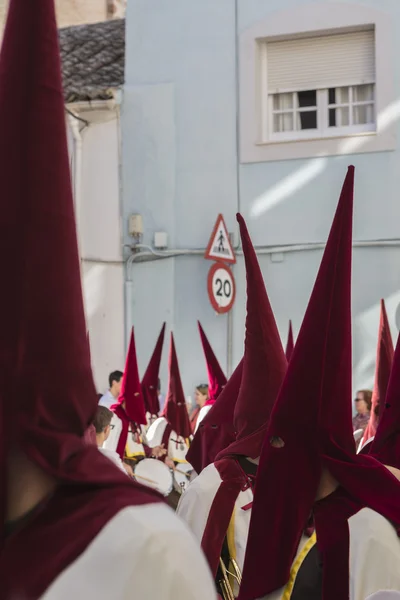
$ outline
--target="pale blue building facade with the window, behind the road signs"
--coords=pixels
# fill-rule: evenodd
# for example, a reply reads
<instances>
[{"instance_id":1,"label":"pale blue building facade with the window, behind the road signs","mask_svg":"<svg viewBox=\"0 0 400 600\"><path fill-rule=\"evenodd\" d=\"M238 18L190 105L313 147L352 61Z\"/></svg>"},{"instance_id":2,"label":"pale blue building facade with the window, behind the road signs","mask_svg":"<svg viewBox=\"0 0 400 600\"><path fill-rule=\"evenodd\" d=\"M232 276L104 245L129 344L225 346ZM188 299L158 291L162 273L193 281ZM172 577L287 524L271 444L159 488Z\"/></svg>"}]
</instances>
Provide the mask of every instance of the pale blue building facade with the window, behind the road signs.
<instances>
[{"instance_id":1,"label":"pale blue building facade with the window, behind the road signs","mask_svg":"<svg viewBox=\"0 0 400 600\"><path fill-rule=\"evenodd\" d=\"M400 302L399 31L397 0L130 0L123 233L135 241L140 215L147 248L126 271L126 329L142 369L164 320L187 394L205 378L197 319L228 371L241 358L240 247L233 310L216 316L207 297L200 250L218 213L236 245L246 218L282 338L289 319L297 332L354 164L354 387L372 385L379 299L394 337Z\"/></svg>"}]
</instances>

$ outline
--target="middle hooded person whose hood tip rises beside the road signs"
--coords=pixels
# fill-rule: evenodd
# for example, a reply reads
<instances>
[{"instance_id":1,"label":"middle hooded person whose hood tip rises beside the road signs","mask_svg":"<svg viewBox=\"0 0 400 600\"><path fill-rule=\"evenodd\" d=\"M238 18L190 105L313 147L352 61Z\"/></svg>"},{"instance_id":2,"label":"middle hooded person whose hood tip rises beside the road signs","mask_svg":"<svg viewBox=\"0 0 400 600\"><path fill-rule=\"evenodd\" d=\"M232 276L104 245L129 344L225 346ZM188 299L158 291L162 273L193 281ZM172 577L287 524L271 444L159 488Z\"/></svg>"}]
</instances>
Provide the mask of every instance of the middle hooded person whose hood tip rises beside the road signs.
<instances>
[{"instance_id":1,"label":"middle hooded person whose hood tip rises beside the road signs","mask_svg":"<svg viewBox=\"0 0 400 600\"><path fill-rule=\"evenodd\" d=\"M225 537L228 554L239 568L243 566L252 482L257 470L257 461L252 459L260 455L265 428L287 367L256 253L243 218L238 215L237 219L246 264L247 316L242 378L233 415L236 435L218 454L216 462L193 481L178 507L178 515L201 542L217 579ZM215 409L218 403L217 400ZM207 417L211 415L212 410Z\"/></svg>"}]
</instances>

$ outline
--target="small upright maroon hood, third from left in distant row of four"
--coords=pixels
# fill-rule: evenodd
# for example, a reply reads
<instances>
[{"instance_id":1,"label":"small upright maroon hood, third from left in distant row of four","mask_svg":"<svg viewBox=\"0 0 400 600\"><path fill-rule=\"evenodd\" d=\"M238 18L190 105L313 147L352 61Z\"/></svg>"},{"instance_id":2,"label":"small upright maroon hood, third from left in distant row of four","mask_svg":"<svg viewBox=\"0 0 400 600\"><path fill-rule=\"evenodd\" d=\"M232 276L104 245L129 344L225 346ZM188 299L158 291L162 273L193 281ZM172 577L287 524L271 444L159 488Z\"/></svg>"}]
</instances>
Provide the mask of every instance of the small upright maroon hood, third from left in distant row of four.
<instances>
[{"instance_id":1,"label":"small upright maroon hood, third from left in distant row of four","mask_svg":"<svg viewBox=\"0 0 400 600\"><path fill-rule=\"evenodd\" d=\"M188 411L186 408L185 394L183 393L173 333L171 333L168 366L168 392L165 400L163 417L167 419L169 425L178 435L188 438L192 431L190 427Z\"/></svg>"}]
</instances>

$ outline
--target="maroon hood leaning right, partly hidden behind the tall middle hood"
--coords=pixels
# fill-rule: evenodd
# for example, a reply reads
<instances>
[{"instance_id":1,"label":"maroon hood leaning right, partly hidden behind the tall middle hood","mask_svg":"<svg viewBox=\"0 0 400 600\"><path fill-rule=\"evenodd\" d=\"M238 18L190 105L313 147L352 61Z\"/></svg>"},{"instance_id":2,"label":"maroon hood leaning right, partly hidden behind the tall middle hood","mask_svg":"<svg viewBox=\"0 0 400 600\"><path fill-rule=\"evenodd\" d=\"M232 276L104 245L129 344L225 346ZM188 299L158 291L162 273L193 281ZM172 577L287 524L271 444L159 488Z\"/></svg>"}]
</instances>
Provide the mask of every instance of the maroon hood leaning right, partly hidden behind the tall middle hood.
<instances>
[{"instance_id":1,"label":"maroon hood leaning right, partly hidden behind the tall middle hood","mask_svg":"<svg viewBox=\"0 0 400 600\"><path fill-rule=\"evenodd\" d=\"M236 440L233 414L242 381L243 360L240 361L211 410L201 421L186 455L186 460L198 475L216 456Z\"/></svg>"}]
</instances>

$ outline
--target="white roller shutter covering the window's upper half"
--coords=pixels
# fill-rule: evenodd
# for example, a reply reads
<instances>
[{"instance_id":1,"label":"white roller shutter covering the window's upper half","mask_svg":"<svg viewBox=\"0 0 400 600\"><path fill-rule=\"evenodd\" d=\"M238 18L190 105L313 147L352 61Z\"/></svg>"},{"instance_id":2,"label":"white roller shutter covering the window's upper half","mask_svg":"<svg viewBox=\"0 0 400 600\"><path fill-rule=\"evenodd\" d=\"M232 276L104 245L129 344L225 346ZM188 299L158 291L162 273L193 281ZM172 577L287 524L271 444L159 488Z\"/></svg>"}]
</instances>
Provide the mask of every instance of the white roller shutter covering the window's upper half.
<instances>
[{"instance_id":1,"label":"white roller shutter covering the window's upper half","mask_svg":"<svg viewBox=\"0 0 400 600\"><path fill-rule=\"evenodd\" d=\"M270 94L375 82L375 32L266 42Z\"/></svg>"}]
</instances>

